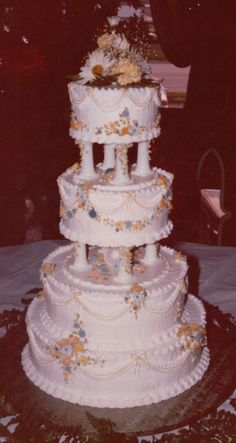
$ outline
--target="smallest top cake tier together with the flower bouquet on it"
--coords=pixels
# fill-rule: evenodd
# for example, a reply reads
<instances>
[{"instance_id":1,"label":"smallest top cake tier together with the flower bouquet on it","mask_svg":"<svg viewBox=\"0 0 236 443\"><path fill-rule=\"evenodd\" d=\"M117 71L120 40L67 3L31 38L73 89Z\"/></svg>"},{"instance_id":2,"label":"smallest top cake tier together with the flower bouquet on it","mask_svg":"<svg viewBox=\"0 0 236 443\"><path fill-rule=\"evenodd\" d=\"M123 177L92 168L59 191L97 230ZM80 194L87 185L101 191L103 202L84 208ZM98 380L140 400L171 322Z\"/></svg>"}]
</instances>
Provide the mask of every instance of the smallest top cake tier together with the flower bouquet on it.
<instances>
[{"instance_id":1,"label":"smallest top cake tier together with the flower bouquet on it","mask_svg":"<svg viewBox=\"0 0 236 443\"><path fill-rule=\"evenodd\" d=\"M112 18L98 47L69 83L70 135L82 143L135 143L158 137L160 82L141 50L118 32Z\"/></svg>"}]
</instances>

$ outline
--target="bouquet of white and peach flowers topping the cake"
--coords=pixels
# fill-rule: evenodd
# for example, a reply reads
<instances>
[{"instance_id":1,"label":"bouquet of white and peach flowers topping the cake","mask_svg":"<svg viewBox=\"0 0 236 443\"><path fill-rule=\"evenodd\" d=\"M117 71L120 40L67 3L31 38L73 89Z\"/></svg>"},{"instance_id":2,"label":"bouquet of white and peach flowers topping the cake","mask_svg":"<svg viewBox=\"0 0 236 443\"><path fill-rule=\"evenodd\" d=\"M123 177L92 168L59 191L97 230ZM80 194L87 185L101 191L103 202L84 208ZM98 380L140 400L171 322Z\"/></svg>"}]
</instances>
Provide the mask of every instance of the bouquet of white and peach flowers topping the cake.
<instances>
[{"instance_id":1,"label":"bouquet of white and peach flowers topping the cake","mask_svg":"<svg viewBox=\"0 0 236 443\"><path fill-rule=\"evenodd\" d=\"M145 58L117 33L119 17L108 18L110 28L97 38L97 48L81 67L78 81L91 86L128 86L156 84Z\"/></svg>"}]
</instances>

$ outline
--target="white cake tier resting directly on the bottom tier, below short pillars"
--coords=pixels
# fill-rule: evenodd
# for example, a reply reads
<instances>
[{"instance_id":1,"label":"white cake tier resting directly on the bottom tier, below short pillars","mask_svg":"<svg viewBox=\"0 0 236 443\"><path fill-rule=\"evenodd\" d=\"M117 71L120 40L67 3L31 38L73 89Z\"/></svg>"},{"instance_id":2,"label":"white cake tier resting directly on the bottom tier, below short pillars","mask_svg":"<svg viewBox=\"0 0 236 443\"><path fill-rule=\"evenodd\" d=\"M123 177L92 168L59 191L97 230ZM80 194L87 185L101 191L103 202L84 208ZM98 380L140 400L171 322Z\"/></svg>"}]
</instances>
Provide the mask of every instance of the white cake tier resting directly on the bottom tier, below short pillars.
<instances>
[{"instance_id":1,"label":"white cake tier resting directly on the bottom tier, below short pillars","mask_svg":"<svg viewBox=\"0 0 236 443\"><path fill-rule=\"evenodd\" d=\"M145 266L139 251L133 280L124 284L117 279L112 250L91 248L89 268L78 271L73 249L61 247L43 263L44 328L70 331L79 313L88 330L96 331L91 337L95 348L139 348L140 341L156 341L160 334L165 341L165 331L173 327L185 304L185 258L162 247L156 263Z\"/></svg>"}]
</instances>

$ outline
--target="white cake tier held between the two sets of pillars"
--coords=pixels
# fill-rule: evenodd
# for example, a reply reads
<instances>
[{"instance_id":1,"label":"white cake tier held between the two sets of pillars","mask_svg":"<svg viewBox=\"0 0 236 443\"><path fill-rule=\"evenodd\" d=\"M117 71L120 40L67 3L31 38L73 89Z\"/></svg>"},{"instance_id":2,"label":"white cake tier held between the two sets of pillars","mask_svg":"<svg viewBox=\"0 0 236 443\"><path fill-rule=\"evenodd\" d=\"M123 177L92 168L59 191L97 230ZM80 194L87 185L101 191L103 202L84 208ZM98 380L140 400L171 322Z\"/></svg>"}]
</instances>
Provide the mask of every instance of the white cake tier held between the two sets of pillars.
<instances>
[{"instance_id":1,"label":"white cake tier held between the two sets of pillars","mask_svg":"<svg viewBox=\"0 0 236 443\"><path fill-rule=\"evenodd\" d=\"M61 233L101 247L140 246L167 237L173 175L154 168L146 177L131 177L122 186L108 182L106 172L85 181L69 168L58 178Z\"/></svg>"}]
</instances>

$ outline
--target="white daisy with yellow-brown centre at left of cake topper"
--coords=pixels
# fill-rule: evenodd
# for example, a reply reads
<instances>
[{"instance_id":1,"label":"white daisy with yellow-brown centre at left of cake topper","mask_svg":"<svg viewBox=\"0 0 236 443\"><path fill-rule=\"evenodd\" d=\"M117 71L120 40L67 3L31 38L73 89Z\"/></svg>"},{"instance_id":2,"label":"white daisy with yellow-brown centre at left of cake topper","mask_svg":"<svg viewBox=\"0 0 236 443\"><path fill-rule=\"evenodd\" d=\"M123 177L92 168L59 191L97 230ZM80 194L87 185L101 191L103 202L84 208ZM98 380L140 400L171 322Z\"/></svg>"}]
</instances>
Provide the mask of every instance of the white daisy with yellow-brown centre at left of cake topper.
<instances>
[{"instance_id":1,"label":"white daisy with yellow-brown centre at left of cake topper","mask_svg":"<svg viewBox=\"0 0 236 443\"><path fill-rule=\"evenodd\" d=\"M105 76L111 66L111 61L104 55L101 49L96 49L91 52L82 66L79 76L79 83L85 85L88 82L93 82L98 77Z\"/></svg>"}]
</instances>

